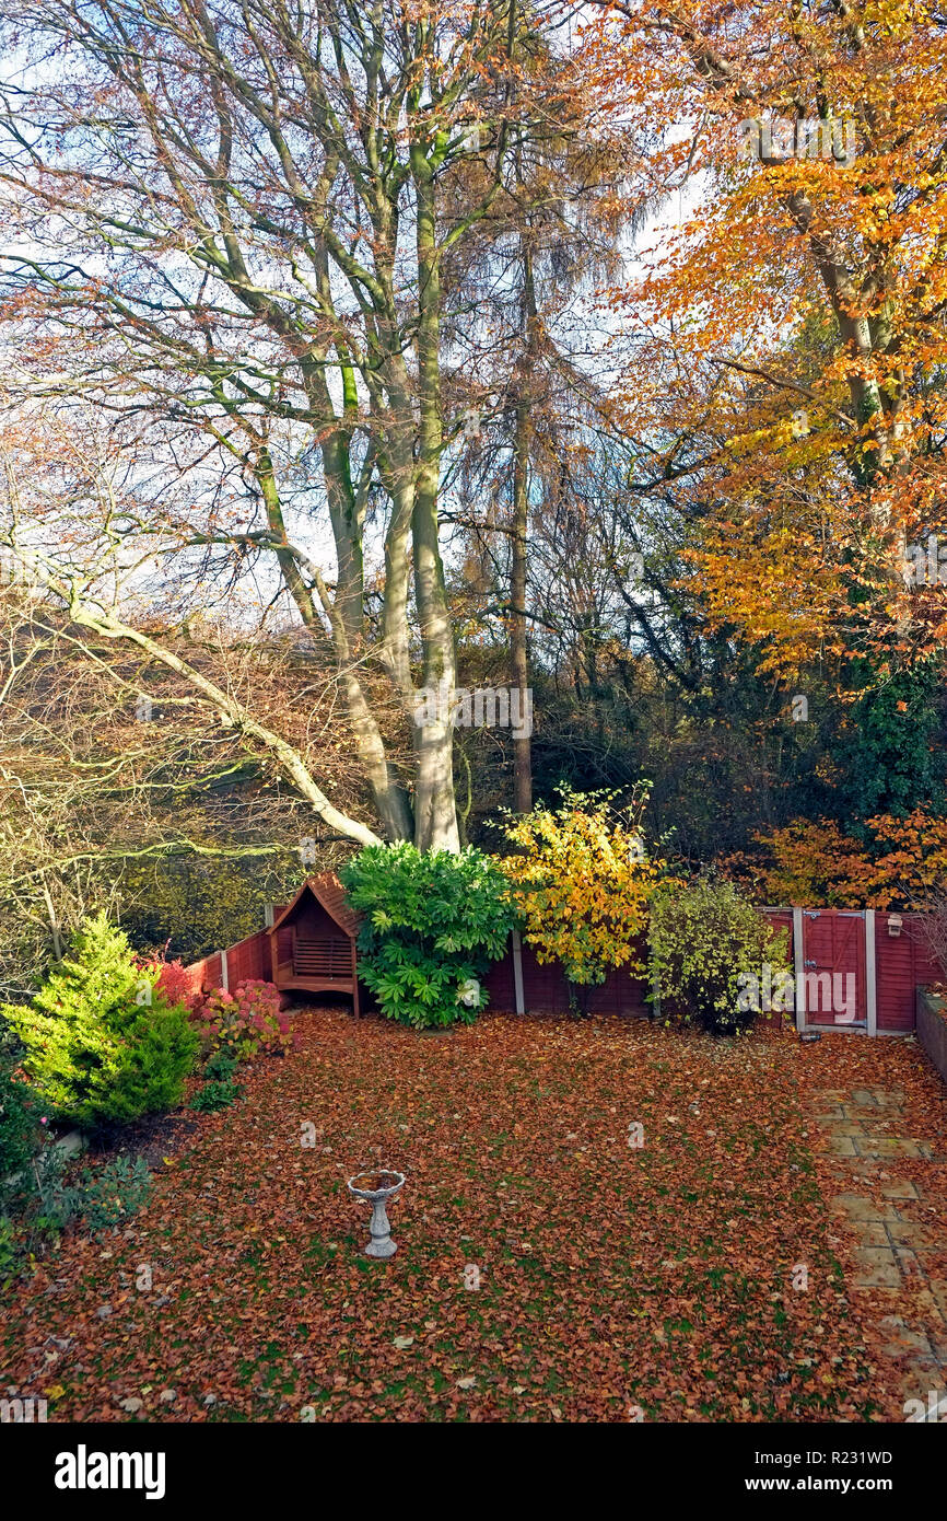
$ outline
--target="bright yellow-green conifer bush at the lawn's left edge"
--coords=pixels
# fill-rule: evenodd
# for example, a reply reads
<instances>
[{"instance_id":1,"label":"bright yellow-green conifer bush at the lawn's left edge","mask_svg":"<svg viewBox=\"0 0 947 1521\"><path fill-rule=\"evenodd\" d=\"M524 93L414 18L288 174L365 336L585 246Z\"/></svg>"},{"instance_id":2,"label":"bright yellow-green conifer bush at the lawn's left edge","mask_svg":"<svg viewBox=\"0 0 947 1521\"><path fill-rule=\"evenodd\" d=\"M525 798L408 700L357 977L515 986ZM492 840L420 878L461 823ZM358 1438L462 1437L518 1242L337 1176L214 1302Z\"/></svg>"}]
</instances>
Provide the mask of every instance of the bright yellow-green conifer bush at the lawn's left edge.
<instances>
[{"instance_id":1,"label":"bright yellow-green conifer bush at the lawn's left edge","mask_svg":"<svg viewBox=\"0 0 947 1521\"><path fill-rule=\"evenodd\" d=\"M91 1127L179 1103L199 1046L187 1010L164 1001L105 914L87 920L30 1007L6 1005L0 1018L43 1101Z\"/></svg>"}]
</instances>

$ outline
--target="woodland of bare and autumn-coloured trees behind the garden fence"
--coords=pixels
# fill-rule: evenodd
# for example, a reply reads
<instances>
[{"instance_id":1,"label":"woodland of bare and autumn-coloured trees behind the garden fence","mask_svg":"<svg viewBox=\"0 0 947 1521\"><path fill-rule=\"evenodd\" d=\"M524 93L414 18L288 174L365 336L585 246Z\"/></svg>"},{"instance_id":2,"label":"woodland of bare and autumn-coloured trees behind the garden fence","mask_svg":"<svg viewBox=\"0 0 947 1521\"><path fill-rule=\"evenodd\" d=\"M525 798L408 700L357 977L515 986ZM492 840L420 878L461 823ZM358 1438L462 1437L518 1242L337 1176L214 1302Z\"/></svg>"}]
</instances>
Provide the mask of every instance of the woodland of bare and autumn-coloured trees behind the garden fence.
<instances>
[{"instance_id":1,"label":"woodland of bare and autumn-coloured trees behind the garden fence","mask_svg":"<svg viewBox=\"0 0 947 1521\"><path fill-rule=\"evenodd\" d=\"M759 900L941 890L942 15L6 11L3 996L564 783Z\"/></svg>"}]
</instances>

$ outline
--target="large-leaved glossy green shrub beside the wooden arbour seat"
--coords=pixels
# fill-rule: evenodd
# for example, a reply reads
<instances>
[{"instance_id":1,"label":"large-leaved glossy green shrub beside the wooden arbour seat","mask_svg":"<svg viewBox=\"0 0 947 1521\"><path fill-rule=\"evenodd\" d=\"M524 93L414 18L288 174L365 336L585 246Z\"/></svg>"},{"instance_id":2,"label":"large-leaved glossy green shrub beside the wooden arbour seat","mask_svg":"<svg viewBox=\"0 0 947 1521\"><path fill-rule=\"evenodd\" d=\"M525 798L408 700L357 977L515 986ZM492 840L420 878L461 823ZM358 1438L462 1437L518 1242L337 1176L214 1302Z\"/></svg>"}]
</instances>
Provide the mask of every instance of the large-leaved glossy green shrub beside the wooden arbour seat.
<instances>
[{"instance_id":1,"label":"large-leaved glossy green shrub beside the wooden arbour seat","mask_svg":"<svg viewBox=\"0 0 947 1521\"><path fill-rule=\"evenodd\" d=\"M342 868L365 919L359 970L388 1019L415 1027L470 1024L486 1004L480 976L515 925L509 884L480 850L421 853L368 846Z\"/></svg>"}]
</instances>

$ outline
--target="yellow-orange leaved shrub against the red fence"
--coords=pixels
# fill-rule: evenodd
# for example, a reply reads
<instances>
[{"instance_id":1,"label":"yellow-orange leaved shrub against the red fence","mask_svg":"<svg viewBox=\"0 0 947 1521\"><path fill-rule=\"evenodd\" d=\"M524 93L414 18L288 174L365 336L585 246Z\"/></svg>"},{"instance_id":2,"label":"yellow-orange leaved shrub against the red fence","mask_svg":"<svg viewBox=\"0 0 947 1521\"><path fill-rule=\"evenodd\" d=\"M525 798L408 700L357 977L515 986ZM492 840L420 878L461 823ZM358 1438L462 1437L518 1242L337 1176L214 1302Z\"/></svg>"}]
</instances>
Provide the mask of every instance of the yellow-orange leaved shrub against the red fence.
<instances>
[{"instance_id":1,"label":"yellow-orange leaved shrub against the red fence","mask_svg":"<svg viewBox=\"0 0 947 1521\"><path fill-rule=\"evenodd\" d=\"M645 786L622 812L611 792L559 792L559 808L535 808L505 826L517 853L506 856L503 870L526 943L540 963L562 963L573 1007L581 1008L587 995L575 990L603 983L613 967L645 970L648 900L663 862L645 849Z\"/></svg>"}]
</instances>

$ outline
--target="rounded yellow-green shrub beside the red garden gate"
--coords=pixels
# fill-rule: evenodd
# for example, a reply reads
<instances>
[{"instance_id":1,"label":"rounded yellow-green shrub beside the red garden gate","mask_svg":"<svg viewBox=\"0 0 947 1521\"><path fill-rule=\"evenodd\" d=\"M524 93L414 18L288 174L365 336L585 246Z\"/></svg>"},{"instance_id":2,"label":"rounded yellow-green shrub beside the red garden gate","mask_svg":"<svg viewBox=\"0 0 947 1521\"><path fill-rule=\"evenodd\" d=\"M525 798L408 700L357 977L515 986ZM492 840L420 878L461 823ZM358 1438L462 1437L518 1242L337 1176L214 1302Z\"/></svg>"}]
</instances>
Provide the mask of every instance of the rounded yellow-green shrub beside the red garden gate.
<instances>
[{"instance_id":1,"label":"rounded yellow-green shrub beside the red garden gate","mask_svg":"<svg viewBox=\"0 0 947 1521\"><path fill-rule=\"evenodd\" d=\"M667 887L651 903L648 931L661 1008L672 1007L714 1034L748 1028L760 1001L748 996L755 981L787 973L787 931L774 926L733 882L701 878L690 887Z\"/></svg>"}]
</instances>

